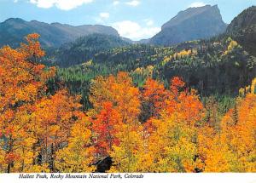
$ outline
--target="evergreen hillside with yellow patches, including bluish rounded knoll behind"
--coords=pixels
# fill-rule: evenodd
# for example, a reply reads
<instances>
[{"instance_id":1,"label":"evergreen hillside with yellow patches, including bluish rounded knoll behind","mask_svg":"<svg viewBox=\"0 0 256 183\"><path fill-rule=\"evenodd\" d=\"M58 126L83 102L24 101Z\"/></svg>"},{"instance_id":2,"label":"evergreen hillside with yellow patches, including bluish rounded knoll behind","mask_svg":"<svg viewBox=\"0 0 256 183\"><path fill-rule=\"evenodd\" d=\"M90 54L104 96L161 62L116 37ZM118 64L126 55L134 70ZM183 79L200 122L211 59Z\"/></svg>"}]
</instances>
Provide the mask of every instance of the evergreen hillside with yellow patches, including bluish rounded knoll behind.
<instances>
[{"instance_id":1,"label":"evergreen hillside with yellow patches, including bluish rounded knoll behind","mask_svg":"<svg viewBox=\"0 0 256 183\"><path fill-rule=\"evenodd\" d=\"M255 14L253 9L246 9L239 16L246 17L247 12ZM232 22L236 21L237 18ZM202 98L212 95L227 100L256 76L256 58L251 49L241 46L230 33L234 24L218 37L172 47L129 44L119 37L103 35L84 37L49 54L54 56L47 60L54 60L60 66L50 83L63 81L73 94L82 94L86 109L91 107L88 100L91 79L118 71L129 72L133 83L140 88L148 77L163 82L168 88L170 79L178 76L190 88L197 89ZM251 24L247 23L247 27L255 26L253 21ZM253 39L247 40L247 45L253 44L251 42ZM62 68L67 66L70 67Z\"/></svg>"}]
</instances>

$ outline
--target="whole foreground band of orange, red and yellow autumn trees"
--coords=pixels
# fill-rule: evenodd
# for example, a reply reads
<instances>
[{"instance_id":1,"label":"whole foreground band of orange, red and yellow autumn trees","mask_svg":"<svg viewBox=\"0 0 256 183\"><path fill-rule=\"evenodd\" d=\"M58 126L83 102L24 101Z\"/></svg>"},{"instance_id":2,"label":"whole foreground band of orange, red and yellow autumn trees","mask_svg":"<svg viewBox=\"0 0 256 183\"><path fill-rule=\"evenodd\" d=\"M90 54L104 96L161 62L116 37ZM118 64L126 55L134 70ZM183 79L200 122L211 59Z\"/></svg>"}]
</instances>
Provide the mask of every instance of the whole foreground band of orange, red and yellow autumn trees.
<instances>
[{"instance_id":1,"label":"whole foreground band of orange, red and yellow autumn trees","mask_svg":"<svg viewBox=\"0 0 256 183\"><path fill-rule=\"evenodd\" d=\"M61 83L47 87L55 67L39 63L37 34L26 40L0 49L1 172L94 172L106 157L101 171L256 171L255 79L220 114L180 77L167 89L149 77L137 88L119 71L91 81L93 107L84 111Z\"/></svg>"}]
</instances>

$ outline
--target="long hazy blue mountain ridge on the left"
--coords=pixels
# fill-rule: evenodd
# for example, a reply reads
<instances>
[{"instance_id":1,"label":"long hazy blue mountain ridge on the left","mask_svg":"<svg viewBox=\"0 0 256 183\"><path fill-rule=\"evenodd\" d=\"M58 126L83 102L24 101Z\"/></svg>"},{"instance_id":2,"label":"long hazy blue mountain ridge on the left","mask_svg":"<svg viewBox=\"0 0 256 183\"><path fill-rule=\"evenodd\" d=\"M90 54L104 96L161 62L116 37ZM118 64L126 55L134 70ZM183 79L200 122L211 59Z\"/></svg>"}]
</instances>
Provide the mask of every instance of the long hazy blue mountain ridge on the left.
<instances>
[{"instance_id":1,"label":"long hazy blue mountain ridge on the left","mask_svg":"<svg viewBox=\"0 0 256 183\"><path fill-rule=\"evenodd\" d=\"M60 23L44 23L37 20L26 21L11 18L0 23L0 47L9 44L17 47L27 34L37 32L41 35L39 41L44 47L59 47L63 43L72 42L79 37L93 33L119 37L118 31L111 26L84 25L70 26Z\"/></svg>"}]
</instances>

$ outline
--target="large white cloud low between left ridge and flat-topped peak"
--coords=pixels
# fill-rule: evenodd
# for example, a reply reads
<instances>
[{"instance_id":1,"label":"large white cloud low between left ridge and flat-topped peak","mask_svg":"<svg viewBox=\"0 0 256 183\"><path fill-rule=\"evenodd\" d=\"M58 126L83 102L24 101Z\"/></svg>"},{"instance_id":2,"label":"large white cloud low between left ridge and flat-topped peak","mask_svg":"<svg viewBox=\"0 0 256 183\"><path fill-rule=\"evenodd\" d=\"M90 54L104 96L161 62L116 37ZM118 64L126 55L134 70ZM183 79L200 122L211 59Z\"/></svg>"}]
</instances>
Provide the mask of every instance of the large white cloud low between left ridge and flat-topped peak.
<instances>
[{"instance_id":1,"label":"large white cloud low between left ridge and flat-topped peak","mask_svg":"<svg viewBox=\"0 0 256 183\"><path fill-rule=\"evenodd\" d=\"M137 22L131 20L115 22L112 26L119 31L121 37L128 37L132 40L153 37L154 34L160 31L160 27L142 27Z\"/></svg>"}]
</instances>

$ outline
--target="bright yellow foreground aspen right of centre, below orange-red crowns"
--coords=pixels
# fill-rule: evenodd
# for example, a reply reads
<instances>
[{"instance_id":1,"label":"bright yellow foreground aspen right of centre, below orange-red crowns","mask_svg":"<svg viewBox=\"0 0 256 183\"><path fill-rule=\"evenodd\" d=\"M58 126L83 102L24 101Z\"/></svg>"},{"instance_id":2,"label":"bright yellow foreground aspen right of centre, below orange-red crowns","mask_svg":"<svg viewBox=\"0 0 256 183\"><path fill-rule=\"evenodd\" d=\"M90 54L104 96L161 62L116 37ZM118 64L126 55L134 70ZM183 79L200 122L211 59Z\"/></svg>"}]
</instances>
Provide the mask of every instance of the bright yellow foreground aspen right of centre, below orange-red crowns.
<instances>
[{"instance_id":1,"label":"bright yellow foreground aspen right of centre, below orange-red crowns","mask_svg":"<svg viewBox=\"0 0 256 183\"><path fill-rule=\"evenodd\" d=\"M150 171L193 172L196 146L195 130L180 122L180 116L162 115L153 120L154 132L148 137L148 153L152 154Z\"/></svg>"}]
</instances>

